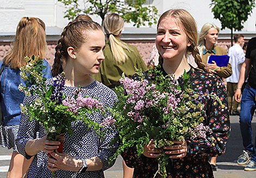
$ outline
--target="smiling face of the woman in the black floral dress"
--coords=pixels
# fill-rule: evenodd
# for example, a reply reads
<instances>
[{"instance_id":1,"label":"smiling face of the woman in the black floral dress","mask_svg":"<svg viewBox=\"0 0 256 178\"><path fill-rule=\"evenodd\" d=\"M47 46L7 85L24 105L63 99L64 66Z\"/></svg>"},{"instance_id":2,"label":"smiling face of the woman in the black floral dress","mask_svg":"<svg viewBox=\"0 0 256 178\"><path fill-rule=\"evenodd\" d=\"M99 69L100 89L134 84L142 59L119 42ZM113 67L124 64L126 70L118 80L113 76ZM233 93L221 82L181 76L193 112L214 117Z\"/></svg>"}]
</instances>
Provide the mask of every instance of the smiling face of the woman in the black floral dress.
<instances>
[{"instance_id":1,"label":"smiling face of the woman in the black floral dress","mask_svg":"<svg viewBox=\"0 0 256 178\"><path fill-rule=\"evenodd\" d=\"M159 23L156 34L156 47L163 59L182 59L191 43L174 17L165 17Z\"/></svg>"}]
</instances>

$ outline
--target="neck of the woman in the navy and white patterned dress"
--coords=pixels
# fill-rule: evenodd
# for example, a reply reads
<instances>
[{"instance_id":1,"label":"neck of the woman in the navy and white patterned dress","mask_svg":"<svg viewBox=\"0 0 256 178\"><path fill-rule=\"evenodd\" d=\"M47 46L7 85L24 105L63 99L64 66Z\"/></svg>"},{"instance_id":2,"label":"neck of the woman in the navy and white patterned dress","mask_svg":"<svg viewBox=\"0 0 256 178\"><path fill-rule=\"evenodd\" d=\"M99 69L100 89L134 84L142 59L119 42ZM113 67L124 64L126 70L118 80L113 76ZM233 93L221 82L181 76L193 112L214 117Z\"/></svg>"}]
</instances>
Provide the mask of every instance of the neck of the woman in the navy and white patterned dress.
<instances>
[{"instance_id":1,"label":"neck of the woman in the navy and white patterned dress","mask_svg":"<svg viewBox=\"0 0 256 178\"><path fill-rule=\"evenodd\" d=\"M92 84L95 80L89 76L89 74L81 74L76 72L73 63L68 60L63 71L65 72L65 85L68 87L86 87Z\"/></svg>"}]
</instances>

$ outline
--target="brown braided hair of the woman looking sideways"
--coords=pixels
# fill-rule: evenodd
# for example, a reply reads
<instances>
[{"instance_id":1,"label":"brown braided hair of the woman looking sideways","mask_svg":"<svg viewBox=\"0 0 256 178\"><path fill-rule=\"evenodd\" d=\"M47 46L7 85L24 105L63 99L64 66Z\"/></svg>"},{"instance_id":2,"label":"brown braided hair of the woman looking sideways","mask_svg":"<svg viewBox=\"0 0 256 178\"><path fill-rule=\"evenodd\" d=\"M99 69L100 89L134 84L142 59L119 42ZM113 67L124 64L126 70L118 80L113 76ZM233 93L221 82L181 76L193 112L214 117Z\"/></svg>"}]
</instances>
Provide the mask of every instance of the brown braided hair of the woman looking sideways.
<instances>
[{"instance_id":1,"label":"brown braided hair of the woman looking sideways","mask_svg":"<svg viewBox=\"0 0 256 178\"><path fill-rule=\"evenodd\" d=\"M52 65L52 76L63 71L63 62L68 59L68 47L78 50L88 39L88 32L102 30L99 23L87 20L74 20L64 28L58 44L55 47L55 58Z\"/></svg>"}]
</instances>

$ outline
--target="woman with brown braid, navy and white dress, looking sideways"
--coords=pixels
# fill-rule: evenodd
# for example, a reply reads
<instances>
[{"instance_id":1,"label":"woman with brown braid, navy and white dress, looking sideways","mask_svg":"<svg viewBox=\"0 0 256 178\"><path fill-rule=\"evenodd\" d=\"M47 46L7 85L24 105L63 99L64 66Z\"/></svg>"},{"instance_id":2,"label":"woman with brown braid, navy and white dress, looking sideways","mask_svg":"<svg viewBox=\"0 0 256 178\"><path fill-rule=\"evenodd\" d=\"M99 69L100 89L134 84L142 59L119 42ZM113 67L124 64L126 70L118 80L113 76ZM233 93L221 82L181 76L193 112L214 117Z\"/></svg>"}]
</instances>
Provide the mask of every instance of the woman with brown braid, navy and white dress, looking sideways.
<instances>
[{"instance_id":1,"label":"woman with brown braid, navy and white dress, looking sideways","mask_svg":"<svg viewBox=\"0 0 256 178\"><path fill-rule=\"evenodd\" d=\"M52 75L65 72L63 93L66 96L74 95L74 91L81 87L82 96L97 98L104 107L114 106L115 93L90 77L99 72L100 64L105 59L104 47L105 35L96 22L75 20L64 28L56 46ZM53 78L46 83L52 85ZM26 97L23 104L31 102L33 97ZM101 113L89 117L99 123L106 119ZM51 171L55 171L56 177L104 177L103 170L113 165L108 163L108 159L118 145L109 143L117 132L108 131L101 137L92 129L88 130L82 121L72 122L71 125L73 135L65 134L64 150L59 153L56 149L60 142L47 140L39 122L29 121L27 115L22 115L22 129L17 138L19 152L27 159L36 155L28 177L52 177ZM38 139L34 137L35 132L39 132Z\"/></svg>"}]
</instances>

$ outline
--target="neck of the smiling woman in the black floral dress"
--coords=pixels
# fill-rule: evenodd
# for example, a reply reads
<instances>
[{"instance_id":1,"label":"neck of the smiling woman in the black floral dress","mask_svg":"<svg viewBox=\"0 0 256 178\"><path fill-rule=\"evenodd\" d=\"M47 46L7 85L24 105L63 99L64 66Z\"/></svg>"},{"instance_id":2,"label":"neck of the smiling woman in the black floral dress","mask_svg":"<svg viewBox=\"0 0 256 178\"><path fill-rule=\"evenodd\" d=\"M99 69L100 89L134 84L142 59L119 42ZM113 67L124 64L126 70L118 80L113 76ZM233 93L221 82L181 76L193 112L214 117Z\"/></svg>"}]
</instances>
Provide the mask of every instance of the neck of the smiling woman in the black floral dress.
<instances>
[{"instance_id":1,"label":"neck of the smiling woman in the black floral dress","mask_svg":"<svg viewBox=\"0 0 256 178\"><path fill-rule=\"evenodd\" d=\"M191 67L188 65L187 59L184 57L176 61L163 60L163 69L168 74L174 74L175 78L177 79L183 75L184 70L187 72L191 69Z\"/></svg>"}]
</instances>

